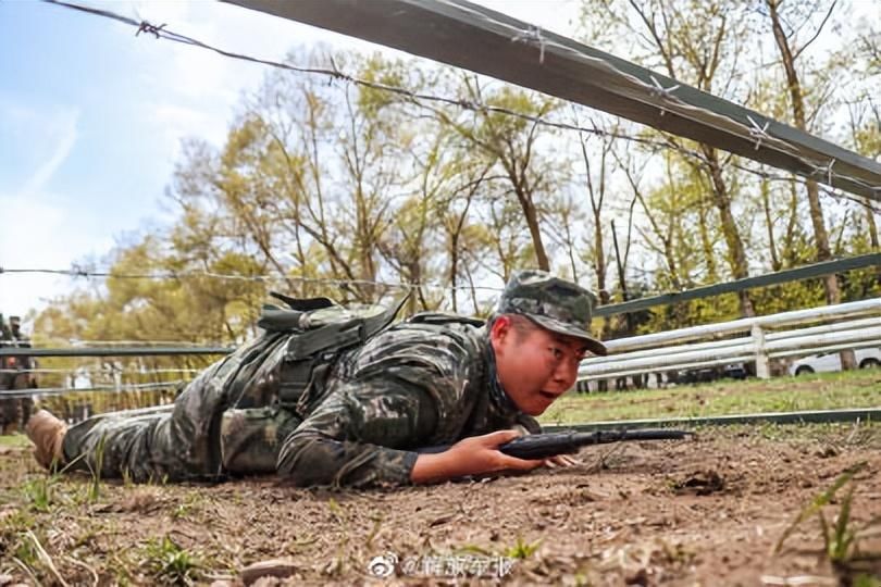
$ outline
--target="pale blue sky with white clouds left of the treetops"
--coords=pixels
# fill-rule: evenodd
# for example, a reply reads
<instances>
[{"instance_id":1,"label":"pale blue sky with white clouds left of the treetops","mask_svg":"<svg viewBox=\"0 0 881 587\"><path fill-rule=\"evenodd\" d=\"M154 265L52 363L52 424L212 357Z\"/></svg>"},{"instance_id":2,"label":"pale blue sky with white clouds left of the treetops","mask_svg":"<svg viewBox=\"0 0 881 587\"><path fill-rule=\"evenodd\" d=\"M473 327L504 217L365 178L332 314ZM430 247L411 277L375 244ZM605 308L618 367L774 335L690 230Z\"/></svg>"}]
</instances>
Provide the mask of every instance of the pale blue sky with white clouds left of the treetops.
<instances>
[{"instance_id":1,"label":"pale blue sky with white clouds left of the treetops","mask_svg":"<svg viewBox=\"0 0 881 587\"><path fill-rule=\"evenodd\" d=\"M209 0L80 3L269 59L320 41L379 49ZM559 32L574 13L571 0L481 3ZM163 191L182 139L220 145L239 96L266 71L134 34L65 8L0 0L0 266L101 267L126 235L167 223ZM25 314L87 285L0 274L0 312Z\"/></svg>"}]
</instances>

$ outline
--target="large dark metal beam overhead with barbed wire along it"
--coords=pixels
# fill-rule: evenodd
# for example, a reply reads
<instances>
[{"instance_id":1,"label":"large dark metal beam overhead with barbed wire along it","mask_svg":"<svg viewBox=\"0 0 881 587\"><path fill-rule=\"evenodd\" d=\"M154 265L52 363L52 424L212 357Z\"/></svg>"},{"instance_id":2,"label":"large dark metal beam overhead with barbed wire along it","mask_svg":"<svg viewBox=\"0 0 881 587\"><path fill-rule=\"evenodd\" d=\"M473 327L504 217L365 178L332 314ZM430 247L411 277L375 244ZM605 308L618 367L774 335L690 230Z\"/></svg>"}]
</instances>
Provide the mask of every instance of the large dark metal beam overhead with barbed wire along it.
<instances>
[{"instance_id":1,"label":"large dark metal beam overhead with barbed wire along it","mask_svg":"<svg viewBox=\"0 0 881 587\"><path fill-rule=\"evenodd\" d=\"M881 201L876 161L463 0L223 1L518 84Z\"/></svg>"}]
</instances>

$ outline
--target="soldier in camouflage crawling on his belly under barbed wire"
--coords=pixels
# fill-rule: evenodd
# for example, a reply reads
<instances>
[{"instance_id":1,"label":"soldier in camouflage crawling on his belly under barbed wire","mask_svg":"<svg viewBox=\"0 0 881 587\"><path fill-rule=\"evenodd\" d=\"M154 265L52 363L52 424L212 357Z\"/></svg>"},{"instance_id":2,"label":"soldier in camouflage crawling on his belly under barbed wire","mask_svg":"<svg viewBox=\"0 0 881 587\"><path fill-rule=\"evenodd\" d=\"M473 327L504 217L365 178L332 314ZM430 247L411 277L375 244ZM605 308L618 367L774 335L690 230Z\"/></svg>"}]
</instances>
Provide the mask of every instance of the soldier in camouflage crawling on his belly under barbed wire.
<instances>
[{"instance_id":1,"label":"soldier in camouflage crawling on his belly under barbed wire","mask_svg":"<svg viewBox=\"0 0 881 587\"><path fill-rule=\"evenodd\" d=\"M394 310L361 323L357 344L333 324L269 327L194 379L171 413L66 429L40 411L27 433L46 467L100 466L103 478L134 482L276 473L296 486L365 487L531 470L548 462L498 446L539 432L534 416L573 386L585 353L606 353L590 334L595 302L576 284L522 271L485 325L424 313L388 326ZM437 445L452 446L415 451Z\"/></svg>"}]
</instances>

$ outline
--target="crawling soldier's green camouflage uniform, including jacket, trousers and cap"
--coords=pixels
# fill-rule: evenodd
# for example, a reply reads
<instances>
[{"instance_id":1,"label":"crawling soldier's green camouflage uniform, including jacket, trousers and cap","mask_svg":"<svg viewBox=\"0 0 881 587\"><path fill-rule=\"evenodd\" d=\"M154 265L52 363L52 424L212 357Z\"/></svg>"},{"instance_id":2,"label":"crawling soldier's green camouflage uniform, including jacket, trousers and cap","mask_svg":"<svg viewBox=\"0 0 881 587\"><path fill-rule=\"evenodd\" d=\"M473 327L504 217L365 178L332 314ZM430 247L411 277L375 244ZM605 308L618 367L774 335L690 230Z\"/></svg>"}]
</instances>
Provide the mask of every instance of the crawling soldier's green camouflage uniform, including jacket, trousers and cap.
<instances>
[{"instance_id":1,"label":"crawling soldier's green camouflage uniform, including jacket, trousers and cap","mask_svg":"<svg viewBox=\"0 0 881 587\"><path fill-rule=\"evenodd\" d=\"M528 285L530 276L539 285L550 278L532 272L513 282ZM522 291L509 284L499 309L533 319L541 313L567 334L578 319L575 336L588 338L590 303L586 319L582 307L573 319L559 304L564 292L554 294L556 303L525 308L536 295L529 288L525 298L510 295ZM579 288L573 304L584 303L583 292ZM402 485L410 483L419 447L516 425L539 430L499 385L487 330L473 321L392 326L332 359L296 405L283 407L289 336L266 334L215 363L171 413L97 416L72 427L64 460L85 470L100 461L103 477L135 482L277 472L297 486Z\"/></svg>"}]
</instances>

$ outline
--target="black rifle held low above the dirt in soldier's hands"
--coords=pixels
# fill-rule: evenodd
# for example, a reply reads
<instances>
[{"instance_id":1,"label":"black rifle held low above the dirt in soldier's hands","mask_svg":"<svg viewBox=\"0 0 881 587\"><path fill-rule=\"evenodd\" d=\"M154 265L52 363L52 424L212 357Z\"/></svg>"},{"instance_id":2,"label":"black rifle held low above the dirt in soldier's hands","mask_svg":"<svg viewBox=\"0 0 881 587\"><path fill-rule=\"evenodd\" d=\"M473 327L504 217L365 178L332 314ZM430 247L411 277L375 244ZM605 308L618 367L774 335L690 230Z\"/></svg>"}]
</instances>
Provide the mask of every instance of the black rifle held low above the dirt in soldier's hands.
<instances>
[{"instance_id":1,"label":"black rifle held low above the dirt in soldier's hands","mask_svg":"<svg viewBox=\"0 0 881 587\"><path fill-rule=\"evenodd\" d=\"M498 450L518 459L537 460L549 459L558 454L573 454L580 448L590 445L608 445L610 442L628 442L631 440L682 440L694 433L685 430L595 430L580 433L576 430L562 430L547 434L531 434L514 438L509 442L499 445ZM444 452L451 445L425 447L417 449L420 453Z\"/></svg>"}]
</instances>

